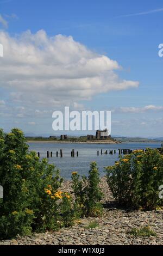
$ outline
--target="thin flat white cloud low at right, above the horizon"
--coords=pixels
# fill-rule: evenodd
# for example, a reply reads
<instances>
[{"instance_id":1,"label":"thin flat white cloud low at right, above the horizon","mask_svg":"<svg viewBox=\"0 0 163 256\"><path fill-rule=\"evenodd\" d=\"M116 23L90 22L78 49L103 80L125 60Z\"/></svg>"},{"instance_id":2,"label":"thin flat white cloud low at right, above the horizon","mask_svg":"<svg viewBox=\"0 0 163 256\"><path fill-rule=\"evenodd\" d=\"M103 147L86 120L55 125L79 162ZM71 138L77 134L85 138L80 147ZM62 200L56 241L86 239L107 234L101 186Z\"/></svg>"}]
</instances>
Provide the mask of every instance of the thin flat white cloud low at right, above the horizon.
<instances>
[{"instance_id":1,"label":"thin flat white cloud low at right, above the horizon","mask_svg":"<svg viewBox=\"0 0 163 256\"><path fill-rule=\"evenodd\" d=\"M112 112L121 113L145 113L148 111L163 111L163 106L147 105L145 107L120 107L112 109Z\"/></svg>"}]
</instances>

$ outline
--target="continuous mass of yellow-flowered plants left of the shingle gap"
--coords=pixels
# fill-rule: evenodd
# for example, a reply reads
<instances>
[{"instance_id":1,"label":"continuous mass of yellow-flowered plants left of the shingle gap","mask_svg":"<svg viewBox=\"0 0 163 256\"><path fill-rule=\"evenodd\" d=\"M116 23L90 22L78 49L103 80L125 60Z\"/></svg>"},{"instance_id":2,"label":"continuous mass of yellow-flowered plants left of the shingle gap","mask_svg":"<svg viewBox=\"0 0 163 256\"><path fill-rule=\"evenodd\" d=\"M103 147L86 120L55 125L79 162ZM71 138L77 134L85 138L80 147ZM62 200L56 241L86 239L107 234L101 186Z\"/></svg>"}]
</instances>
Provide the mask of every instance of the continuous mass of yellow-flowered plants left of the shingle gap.
<instances>
[{"instance_id":1,"label":"continuous mass of yellow-flowered plants left of the shingle gap","mask_svg":"<svg viewBox=\"0 0 163 256\"><path fill-rule=\"evenodd\" d=\"M40 161L36 153L29 153L21 130L7 134L0 130L0 162L4 191L0 199L1 239L58 230L72 225L76 218L97 214L101 193L96 163L91 164L89 177L83 177L85 184L77 179L74 182L74 190L83 195L75 193L73 200L69 193L60 191L63 179L59 170L47 159ZM72 173L75 176L78 174Z\"/></svg>"}]
</instances>

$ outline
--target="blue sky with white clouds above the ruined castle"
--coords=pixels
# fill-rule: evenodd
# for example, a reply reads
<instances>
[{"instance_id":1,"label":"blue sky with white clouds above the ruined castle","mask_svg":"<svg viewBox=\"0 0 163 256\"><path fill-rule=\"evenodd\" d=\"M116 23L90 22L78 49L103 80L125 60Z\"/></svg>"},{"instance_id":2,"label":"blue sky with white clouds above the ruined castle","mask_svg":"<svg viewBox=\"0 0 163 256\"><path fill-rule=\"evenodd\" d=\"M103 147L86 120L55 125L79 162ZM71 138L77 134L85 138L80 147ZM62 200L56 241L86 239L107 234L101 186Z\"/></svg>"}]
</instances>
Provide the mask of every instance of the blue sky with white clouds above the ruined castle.
<instances>
[{"instance_id":1,"label":"blue sky with white clouds above the ruined castle","mask_svg":"<svg viewBox=\"0 0 163 256\"><path fill-rule=\"evenodd\" d=\"M0 0L0 127L55 135L69 106L111 111L111 135L162 137L162 21L159 0Z\"/></svg>"}]
</instances>

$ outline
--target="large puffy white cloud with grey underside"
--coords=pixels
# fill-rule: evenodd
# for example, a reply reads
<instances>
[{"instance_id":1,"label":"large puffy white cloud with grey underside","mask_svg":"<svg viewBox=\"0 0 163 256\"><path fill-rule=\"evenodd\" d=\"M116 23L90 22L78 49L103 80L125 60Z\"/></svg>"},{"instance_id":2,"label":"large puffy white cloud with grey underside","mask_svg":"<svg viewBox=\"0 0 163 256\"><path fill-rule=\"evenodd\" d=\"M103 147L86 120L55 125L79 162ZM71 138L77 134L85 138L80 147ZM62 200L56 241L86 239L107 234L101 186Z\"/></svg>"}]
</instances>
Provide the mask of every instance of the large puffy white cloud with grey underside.
<instances>
[{"instance_id":1,"label":"large puffy white cloud with grey underside","mask_svg":"<svg viewBox=\"0 0 163 256\"><path fill-rule=\"evenodd\" d=\"M139 86L121 80L115 60L89 50L72 36L49 37L41 30L12 37L0 32L4 58L0 59L1 87L11 100L42 105L70 105L110 90Z\"/></svg>"}]
</instances>

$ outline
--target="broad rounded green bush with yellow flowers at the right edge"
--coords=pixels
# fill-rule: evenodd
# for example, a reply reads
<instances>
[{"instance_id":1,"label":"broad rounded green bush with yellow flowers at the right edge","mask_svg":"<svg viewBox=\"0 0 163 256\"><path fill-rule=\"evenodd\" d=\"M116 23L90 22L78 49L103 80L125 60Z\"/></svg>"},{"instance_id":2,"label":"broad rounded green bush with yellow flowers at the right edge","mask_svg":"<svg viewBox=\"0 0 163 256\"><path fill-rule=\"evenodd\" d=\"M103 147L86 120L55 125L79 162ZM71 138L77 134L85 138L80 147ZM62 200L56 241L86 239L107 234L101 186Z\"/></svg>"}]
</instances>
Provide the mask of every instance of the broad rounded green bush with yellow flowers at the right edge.
<instances>
[{"instance_id":1,"label":"broad rounded green bush with yellow flowers at the right edge","mask_svg":"<svg viewBox=\"0 0 163 256\"><path fill-rule=\"evenodd\" d=\"M120 204L133 208L162 206L159 186L163 185L163 156L156 149L135 150L106 167L108 185Z\"/></svg>"}]
</instances>

